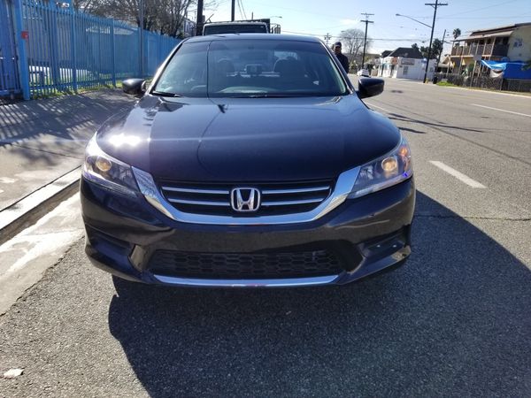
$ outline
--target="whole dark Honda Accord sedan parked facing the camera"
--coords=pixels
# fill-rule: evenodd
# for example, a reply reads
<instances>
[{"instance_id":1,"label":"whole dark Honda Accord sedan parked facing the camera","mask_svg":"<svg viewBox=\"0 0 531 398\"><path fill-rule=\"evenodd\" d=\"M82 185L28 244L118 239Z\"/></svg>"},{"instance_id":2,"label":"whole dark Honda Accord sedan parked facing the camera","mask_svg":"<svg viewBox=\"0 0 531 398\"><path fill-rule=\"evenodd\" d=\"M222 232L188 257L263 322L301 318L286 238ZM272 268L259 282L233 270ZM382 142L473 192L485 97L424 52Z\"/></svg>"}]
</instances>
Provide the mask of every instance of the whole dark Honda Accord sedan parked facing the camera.
<instances>
[{"instance_id":1,"label":"whole dark Honda Accord sedan parked facing the camera","mask_svg":"<svg viewBox=\"0 0 531 398\"><path fill-rule=\"evenodd\" d=\"M86 253L179 287L342 285L404 264L415 202L404 136L319 39L182 41L90 140ZM126 282L127 283L127 282Z\"/></svg>"}]
</instances>

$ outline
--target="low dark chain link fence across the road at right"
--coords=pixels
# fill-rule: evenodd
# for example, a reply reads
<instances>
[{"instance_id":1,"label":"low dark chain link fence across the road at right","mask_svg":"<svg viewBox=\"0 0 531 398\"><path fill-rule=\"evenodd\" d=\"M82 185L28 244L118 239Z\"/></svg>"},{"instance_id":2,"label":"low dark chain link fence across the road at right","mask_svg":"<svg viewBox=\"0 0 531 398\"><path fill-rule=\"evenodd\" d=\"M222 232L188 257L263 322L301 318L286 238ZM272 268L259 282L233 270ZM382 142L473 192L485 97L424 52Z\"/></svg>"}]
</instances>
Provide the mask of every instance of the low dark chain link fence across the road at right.
<instances>
[{"instance_id":1,"label":"low dark chain link fence across the road at right","mask_svg":"<svg viewBox=\"0 0 531 398\"><path fill-rule=\"evenodd\" d=\"M531 93L531 80L502 79L489 76L464 76L458 73L435 73L436 81L446 81L460 87Z\"/></svg>"}]
</instances>

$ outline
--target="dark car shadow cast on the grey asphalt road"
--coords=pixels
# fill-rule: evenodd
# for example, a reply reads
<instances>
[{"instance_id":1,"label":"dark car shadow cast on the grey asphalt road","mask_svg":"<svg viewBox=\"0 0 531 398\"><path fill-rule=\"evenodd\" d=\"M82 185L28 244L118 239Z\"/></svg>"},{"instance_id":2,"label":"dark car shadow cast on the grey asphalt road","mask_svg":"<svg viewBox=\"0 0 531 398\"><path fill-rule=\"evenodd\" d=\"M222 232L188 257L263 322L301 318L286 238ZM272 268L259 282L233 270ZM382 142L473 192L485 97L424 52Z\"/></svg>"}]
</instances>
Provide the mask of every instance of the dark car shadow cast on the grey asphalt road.
<instances>
[{"instance_id":1,"label":"dark car shadow cast on the grey asphalt road","mask_svg":"<svg viewBox=\"0 0 531 398\"><path fill-rule=\"evenodd\" d=\"M129 285L109 327L151 396L524 396L531 271L418 193L413 254L344 287Z\"/></svg>"}]
</instances>

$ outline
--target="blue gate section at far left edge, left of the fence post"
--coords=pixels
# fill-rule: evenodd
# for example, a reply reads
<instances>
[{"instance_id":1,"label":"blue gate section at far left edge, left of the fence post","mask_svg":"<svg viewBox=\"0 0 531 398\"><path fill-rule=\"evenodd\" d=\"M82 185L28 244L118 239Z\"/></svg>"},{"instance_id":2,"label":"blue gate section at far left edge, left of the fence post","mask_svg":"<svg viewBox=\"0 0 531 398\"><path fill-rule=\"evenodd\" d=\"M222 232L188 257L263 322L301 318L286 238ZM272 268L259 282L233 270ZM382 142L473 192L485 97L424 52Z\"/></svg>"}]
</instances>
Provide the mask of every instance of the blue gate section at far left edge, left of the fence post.
<instances>
[{"instance_id":1,"label":"blue gate section at far left edge, left of the fence post","mask_svg":"<svg viewBox=\"0 0 531 398\"><path fill-rule=\"evenodd\" d=\"M0 0L0 96L19 92L11 0Z\"/></svg>"}]
</instances>

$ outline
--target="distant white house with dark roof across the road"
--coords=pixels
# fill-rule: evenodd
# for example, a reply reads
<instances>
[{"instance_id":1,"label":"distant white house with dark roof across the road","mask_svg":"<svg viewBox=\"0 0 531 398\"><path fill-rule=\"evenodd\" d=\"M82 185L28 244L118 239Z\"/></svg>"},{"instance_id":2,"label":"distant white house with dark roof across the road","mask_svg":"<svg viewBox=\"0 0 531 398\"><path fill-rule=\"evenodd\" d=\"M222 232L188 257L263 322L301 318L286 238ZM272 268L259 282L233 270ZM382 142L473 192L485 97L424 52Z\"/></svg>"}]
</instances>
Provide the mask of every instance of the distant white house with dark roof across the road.
<instances>
[{"instance_id":1,"label":"distant white house with dark roof across the road","mask_svg":"<svg viewBox=\"0 0 531 398\"><path fill-rule=\"evenodd\" d=\"M435 72L436 59L429 60L427 79L431 80ZM383 51L380 58L378 75L396 79L423 80L426 71L426 58L419 49L398 47L393 51Z\"/></svg>"}]
</instances>

